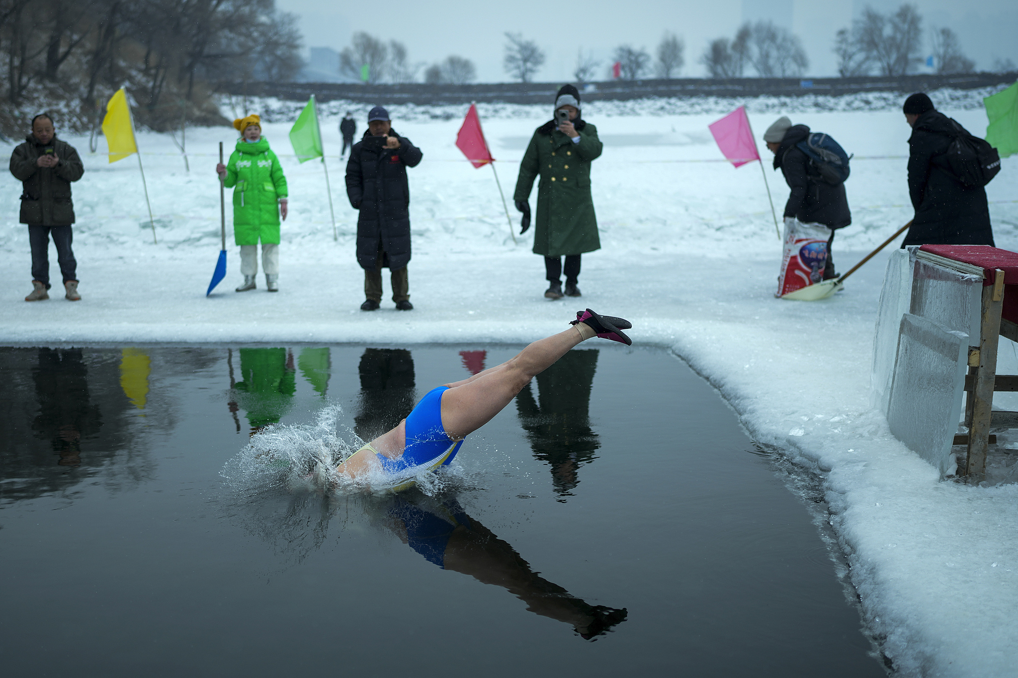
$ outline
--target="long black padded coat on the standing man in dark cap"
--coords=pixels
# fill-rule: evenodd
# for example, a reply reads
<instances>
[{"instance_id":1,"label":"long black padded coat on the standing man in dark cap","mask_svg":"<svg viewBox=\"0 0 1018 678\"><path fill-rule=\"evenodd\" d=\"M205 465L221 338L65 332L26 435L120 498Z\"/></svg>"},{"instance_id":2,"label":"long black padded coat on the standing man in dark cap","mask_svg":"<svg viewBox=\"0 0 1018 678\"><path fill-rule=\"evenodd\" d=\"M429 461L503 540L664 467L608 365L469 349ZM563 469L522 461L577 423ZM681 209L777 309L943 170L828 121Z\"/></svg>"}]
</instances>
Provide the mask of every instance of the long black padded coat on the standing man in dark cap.
<instances>
[{"instance_id":1,"label":"long black padded coat on the standing man in dark cap","mask_svg":"<svg viewBox=\"0 0 1018 678\"><path fill-rule=\"evenodd\" d=\"M410 187L406 168L416 167L422 153L409 139L395 130L399 148L382 148L360 141L350 148L346 163L346 195L357 218L357 263L361 268L398 269L410 261ZM385 254L378 259L379 241Z\"/></svg>"}]
</instances>

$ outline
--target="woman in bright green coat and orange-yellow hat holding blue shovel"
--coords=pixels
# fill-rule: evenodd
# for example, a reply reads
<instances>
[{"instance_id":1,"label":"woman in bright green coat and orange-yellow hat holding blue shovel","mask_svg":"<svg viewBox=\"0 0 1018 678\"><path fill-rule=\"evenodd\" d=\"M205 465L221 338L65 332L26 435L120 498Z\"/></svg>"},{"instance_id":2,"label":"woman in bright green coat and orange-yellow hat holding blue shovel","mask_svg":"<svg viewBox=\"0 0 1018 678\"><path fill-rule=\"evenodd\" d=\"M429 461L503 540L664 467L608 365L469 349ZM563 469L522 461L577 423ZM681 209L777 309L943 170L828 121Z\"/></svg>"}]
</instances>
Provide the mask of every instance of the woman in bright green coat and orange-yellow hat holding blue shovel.
<instances>
[{"instance_id":1,"label":"woman in bright green coat and orange-yellow hat holding blue shovel","mask_svg":"<svg viewBox=\"0 0 1018 678\"><path fill-rule=\"evenodd\" d=\"M279 220L286 221L286 177L269 140L262 136L262 119L249 115L233 121L240 132L237 147L226 165L216 165L223 185L233 189L233 239L240 245L243 285L237 292L258 287L258 244L269 292L279 292Z\"/></svg>"}]
</instances>

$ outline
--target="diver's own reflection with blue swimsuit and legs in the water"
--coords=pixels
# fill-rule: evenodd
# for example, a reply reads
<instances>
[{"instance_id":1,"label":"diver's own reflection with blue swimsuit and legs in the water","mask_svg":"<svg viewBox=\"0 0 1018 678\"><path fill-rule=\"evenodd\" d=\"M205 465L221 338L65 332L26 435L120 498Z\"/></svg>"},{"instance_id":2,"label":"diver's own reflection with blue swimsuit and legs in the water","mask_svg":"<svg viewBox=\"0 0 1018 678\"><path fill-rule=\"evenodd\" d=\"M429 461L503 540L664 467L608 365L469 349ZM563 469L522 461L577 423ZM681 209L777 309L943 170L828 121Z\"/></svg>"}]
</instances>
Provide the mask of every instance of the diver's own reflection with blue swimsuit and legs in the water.
<instances>
[{"instance_id":1,"label":"diver's own reflection with blue swimsuit and legs in the water","mask_svg":"<svg viewBox=\"0 0 1018 678\"><path fill-rule=\"evenodd\" d=\"M397 495L389 517L390 529L426 560L482 583L503 587L530 612L571 624L585 639L626 618L625 608L590 605L541 577L512 546L467 515L455 499L426 508Z\"/></svg>"}]
</instances>

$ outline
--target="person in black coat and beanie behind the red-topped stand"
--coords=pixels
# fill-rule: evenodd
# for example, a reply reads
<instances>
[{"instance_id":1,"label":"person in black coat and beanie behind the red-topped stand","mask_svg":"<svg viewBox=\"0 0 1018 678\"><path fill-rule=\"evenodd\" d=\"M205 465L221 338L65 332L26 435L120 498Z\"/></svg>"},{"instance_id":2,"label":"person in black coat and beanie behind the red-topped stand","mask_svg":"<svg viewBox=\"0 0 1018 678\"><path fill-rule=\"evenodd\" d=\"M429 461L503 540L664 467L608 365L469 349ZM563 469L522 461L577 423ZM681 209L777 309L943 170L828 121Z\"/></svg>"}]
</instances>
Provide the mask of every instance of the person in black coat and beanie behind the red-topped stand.
<instances>
[{"instance_id":1,"label":"person in black coat and beanie behind the red-topped stand","mask_svg":"<svg viewBox=\"0 0 1018 678\"><path fill-rule=\"evenodd\" d=\"M905 100L908 139L908 194L915 218L906 245L993 245L986 189L967 187L951 172L947 149L955 136L967 135L961 125L934 109L919 93Z\"/></svg>"}]
</instances>

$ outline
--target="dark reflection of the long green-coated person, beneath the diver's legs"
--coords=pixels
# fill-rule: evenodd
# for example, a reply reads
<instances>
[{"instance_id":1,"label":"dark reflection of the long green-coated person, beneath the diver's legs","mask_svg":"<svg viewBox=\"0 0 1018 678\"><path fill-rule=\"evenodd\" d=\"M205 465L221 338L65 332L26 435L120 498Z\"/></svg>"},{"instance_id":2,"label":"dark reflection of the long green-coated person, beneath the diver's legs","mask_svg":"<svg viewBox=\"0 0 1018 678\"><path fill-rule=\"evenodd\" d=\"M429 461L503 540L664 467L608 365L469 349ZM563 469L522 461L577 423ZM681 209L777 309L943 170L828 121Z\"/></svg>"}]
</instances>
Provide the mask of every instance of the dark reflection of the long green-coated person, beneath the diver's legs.
<instances>
[{"instance_id":1,"label":"dark reflection of the long green-coated person, beneath the diver's legs","mask_svg":"<svg viewBox=\"0 0 1018 678\"><path fill-rule=\"evenodd\" d=\"M538 375L538 402L530 384L516 396L516 409L533 455L552 470L552 486L560 497L579 485L577 472L596 457L601 446L590 430L590 385L598 369L598 350L570 351ZM565 501L559 499L559 501Z\"/></svg>"}]
</instances>

